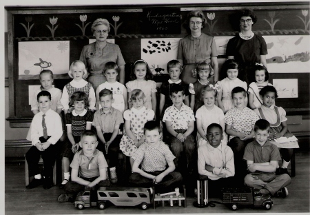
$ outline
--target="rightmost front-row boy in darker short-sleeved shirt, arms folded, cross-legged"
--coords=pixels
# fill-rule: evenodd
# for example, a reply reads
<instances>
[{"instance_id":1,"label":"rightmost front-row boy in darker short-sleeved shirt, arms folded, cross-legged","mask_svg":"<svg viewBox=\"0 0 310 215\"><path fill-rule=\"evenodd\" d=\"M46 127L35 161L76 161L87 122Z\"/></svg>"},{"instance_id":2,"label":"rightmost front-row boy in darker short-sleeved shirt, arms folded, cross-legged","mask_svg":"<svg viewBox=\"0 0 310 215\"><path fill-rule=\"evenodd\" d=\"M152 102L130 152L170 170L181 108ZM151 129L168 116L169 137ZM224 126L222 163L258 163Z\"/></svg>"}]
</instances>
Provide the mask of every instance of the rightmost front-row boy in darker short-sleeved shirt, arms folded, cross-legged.
<instances>
[{"instance_id":1,"label":"rightmost front-row boy in darker short-sleeved shirt, arms folded, cross-legged","mask_svg":"<svg viewBox=\"0 0 310 215\"><path fill-rule=\"evenodd\" d=\"M249 170L245 185L260 189L262 194L286 197L289 194L286 186L291 183L291 178L288 174L276 176L281 156L278 147L267 140L269 127L265 119L259 119L254 125L255 141L247 144L243 156Z\"/></svg>"}]
</instances>

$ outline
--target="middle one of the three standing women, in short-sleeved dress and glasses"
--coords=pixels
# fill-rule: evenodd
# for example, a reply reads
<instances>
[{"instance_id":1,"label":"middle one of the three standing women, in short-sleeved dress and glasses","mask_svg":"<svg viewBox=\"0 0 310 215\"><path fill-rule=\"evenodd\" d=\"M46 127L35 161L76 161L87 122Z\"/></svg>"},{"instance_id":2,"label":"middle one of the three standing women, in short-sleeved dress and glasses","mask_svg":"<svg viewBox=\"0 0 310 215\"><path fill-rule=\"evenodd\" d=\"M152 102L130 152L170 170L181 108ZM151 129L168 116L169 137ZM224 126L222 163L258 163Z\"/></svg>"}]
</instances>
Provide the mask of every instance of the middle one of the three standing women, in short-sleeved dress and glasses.
<instances>
[{"instance_id":1,"label":"middle one of the three standing women, in short-sleeved dress and glasses","mask_svg":"<svg viewBox=\"0 0 310 215\"><path fill-rule=\"evenodd\" d=\"M201 10L189 12L183 24L190 34L180 39L177 59L183 65L180 79L187 84L197 81L192 76L192 70L196 69L197 63L201 61L211 63L214 69L214 82L218 81L218 52L214 37L201 32L206 24L207 19Z\"/></svg>"}]
</instances>

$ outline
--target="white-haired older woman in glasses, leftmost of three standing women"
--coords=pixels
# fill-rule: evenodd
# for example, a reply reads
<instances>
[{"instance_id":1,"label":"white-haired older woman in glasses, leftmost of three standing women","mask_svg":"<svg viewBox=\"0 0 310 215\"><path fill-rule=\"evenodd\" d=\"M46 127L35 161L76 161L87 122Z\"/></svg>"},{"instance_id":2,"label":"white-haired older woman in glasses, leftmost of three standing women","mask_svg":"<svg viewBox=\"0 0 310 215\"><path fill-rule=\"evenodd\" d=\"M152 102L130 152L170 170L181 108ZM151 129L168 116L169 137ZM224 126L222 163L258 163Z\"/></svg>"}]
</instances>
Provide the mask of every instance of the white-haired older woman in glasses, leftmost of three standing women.
<instances>
[{"instance_id":1,"label":"white-haired older woman in glasses, leftmost of three standing women","mask_svg":"<svg viewBox=\"0 0 310 215\"><path fill-rule=\"evenodd\" d=\"M110 23L107 19L96 19L92 23L92 32L96 42L85 45L81 52L80 61L85 64L89 72L88 82L90 82L96 91L96 88L107 81L102 74L105 63L112 61L120 68L119 82L125 81L125 61L118 45L107 42L107 36L110 32Z\"/></svg>"}]
</instances>

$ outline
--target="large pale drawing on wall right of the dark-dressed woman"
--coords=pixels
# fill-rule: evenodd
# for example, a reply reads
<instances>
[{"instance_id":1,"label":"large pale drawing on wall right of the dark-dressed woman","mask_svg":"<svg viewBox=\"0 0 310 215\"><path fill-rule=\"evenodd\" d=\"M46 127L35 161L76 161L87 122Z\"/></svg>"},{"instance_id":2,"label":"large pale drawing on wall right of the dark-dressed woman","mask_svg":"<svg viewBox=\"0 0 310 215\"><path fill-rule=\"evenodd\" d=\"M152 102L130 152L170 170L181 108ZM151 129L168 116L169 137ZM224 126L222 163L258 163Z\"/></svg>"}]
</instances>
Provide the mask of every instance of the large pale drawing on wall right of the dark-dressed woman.
<instances>
[{"instance_id":1,"label":"large pale drawing on wall right of the dark-dressed woman","mask_svg":"<svg viewBox=\"0 0 310 215\"><path fill-rule=\"evenodd\" d=\"M267 43L267 67L271 73L310 72L310 36L263 36Z\"/></svg>"}]
</instances>

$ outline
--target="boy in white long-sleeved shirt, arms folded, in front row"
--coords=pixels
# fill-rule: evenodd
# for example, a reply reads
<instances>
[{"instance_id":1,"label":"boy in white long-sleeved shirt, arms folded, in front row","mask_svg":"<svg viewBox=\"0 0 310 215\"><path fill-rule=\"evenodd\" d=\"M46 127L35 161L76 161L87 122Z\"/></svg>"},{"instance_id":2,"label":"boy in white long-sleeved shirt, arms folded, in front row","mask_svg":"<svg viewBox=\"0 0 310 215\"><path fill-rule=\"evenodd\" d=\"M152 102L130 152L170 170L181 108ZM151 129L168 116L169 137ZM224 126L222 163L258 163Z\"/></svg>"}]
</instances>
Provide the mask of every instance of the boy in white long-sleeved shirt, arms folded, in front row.
<instances>
[{"instance_id":1,"label":"boy in white long-sleeved shirt, arms folded, in front row","mask_svg":"<svg viewBox=\"0 0 310 215\"><path fill-rule=\"evenodd\" d=\"M208 176L210 197L220 197L223 187L234 187L234 153L221 143L223 128L212 123L207 127L207 144L198 148L198 173Z\"/></svg>"}]
</instances>

